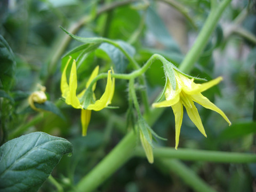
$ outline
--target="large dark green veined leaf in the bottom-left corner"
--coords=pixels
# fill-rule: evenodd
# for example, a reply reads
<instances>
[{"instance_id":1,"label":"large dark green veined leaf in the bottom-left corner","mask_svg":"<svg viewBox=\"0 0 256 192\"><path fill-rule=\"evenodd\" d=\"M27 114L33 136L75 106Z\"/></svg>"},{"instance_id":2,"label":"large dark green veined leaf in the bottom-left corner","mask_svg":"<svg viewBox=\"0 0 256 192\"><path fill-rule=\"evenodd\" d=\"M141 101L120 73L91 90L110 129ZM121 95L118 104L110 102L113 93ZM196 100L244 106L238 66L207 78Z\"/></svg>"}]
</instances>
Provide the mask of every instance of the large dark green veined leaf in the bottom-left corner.
<instances>
[{"instance_id":1,"label":"large dark green veined leaf in the bottom-left corner","mask_svg":"<svg viewBox=\"0 0 256 192\"><path fill-rule=\"evenodd\" d=\"M37 191L62 155L72 152L66 139L35 132L0 147L0 191Z\"/></svg>"}]
</instances>

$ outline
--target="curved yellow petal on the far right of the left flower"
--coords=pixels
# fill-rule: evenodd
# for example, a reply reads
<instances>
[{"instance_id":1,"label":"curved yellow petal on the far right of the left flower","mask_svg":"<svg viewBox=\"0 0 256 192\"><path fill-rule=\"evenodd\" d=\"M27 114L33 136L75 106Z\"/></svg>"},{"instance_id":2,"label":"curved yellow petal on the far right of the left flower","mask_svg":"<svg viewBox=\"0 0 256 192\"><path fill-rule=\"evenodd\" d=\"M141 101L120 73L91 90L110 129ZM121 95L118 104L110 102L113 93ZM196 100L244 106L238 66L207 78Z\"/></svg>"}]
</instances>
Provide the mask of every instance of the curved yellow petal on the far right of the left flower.
<instances>
[{"instance_id":1,"label":"curved yellow petal on the far right of the left flower","mask_svg":"<svg viewBox=\"0 0 256 192\"><path fill-rule=\"evenodd\" d=\"M108 71L108 79L107 79L107 85L106 85L105 92L103 93L103 95L101 96L101 98L99 100L95 101L94 104L90 104L87 107L88 110L99 111L107 106L107 103L109 102L109 98L111 97L111 93L113 91L110 71L111 70Z\"/></svg>"}]
</instances>

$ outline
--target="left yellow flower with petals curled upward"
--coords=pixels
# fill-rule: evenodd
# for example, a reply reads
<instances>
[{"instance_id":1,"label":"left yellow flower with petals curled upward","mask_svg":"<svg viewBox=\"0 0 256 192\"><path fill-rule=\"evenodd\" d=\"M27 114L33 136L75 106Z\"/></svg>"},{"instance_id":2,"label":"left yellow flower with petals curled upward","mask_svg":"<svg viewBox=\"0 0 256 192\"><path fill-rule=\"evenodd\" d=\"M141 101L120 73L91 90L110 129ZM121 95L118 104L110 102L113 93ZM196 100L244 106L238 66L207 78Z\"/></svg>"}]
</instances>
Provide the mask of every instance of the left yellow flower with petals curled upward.
<instances>
[{"instance_id":1,"label":"left yellow flower with petals curled upward","mask_svg":"<svg viewBox=\"0 0 256 192\"><path fill-rule=\"evenodd\" d=\"M105 92L101 96L99 100L96 100L94 103L90 103L88 106L83 107L82 97L86 91L86 89L91 84L92 80L98 75L99 73L99 66L95 67L93 70L89 80L86 83L86 89L83 90L81 93L76 95L76 89L77 89L77 75L76 75L76 61L73 60L73 64L71 66L70 71L70 77L69 77L69 84L67 83L67 76L66 71L69 65L69 62L71 60L71 57L69 58L68 62L66 63L66 66L63 70L62 76L61 76L61 93L62 97L65 98L65 102L68 105L71 105L72 107L76 109L82 109L81 111L81 123L82 123L82 135L85 136L87 133L87 127L90 123L91 119L91 110L99 111L105 107L107 107L113 98L114 90L115 90L115 79L111 79L111 70L108 70L108 77L107 77L107 85ZM96 83L92 86L92 91L94 91L96 88ZM95 100L95 97L93 95L93 98Z\"/></svg>"}]
</instances>

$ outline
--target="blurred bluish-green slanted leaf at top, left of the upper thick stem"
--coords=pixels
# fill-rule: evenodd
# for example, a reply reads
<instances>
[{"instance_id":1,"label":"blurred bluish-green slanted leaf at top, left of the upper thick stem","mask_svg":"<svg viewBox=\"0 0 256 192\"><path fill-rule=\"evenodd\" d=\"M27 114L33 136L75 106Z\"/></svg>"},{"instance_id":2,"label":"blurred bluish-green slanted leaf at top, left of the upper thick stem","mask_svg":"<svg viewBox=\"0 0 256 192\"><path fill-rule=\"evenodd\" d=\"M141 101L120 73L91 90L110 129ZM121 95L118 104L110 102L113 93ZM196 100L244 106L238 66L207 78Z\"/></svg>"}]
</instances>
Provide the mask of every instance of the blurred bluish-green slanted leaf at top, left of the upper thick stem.
<instances>
[{"instance_id":1,"label":"blurred bluish-green slanted leaf at top, left of the upper thick stem","mask_svg":"<svg viewBox=\"0 0 256 192\"><path fill-rule=\"evenodd\" d=\"M165 45L169 50L180 53L178 44L171 37L169 31L164 25L164 22L152 7L149 7L147 10L146 23L148 29L154 34L160 43Z\"/></svg>"}]
</instances>

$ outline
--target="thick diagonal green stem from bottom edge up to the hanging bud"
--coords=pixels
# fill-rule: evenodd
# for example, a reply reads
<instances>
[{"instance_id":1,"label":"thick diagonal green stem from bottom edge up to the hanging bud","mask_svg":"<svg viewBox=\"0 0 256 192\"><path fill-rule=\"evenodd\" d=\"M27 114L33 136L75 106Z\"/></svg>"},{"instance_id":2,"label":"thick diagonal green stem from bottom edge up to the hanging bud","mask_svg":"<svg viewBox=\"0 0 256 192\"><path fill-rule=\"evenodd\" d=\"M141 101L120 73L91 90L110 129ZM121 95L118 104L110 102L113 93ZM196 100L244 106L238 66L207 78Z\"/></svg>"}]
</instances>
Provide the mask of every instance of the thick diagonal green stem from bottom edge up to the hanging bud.
<instances>
[{"instance_id":1,"label":"thick diagonal green stem from bottom edge up to the hanging bud","mask_svg":"<svg viewBox=\"0 0 256 192\"><path fill-rule=\"evenodd\" d=\"M93 191L125 164L132 157L136 146L136 138L133 132L128 133L91 172L78 182L76 191Z\"/></svg>"}]
</instances>

